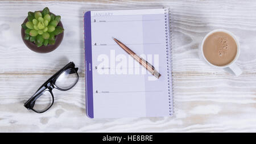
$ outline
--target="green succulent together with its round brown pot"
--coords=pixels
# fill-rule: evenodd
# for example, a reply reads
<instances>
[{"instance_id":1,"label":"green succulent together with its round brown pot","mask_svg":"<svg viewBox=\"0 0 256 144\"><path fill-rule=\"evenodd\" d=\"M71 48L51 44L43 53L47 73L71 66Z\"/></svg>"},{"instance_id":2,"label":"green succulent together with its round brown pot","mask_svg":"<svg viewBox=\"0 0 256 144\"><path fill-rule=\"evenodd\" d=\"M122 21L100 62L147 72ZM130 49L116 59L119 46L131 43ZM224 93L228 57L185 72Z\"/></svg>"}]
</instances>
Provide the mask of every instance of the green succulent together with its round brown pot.
<instances>
[{"instance_id":1,"label":"green succulent together with its round brown pot","mask_svg":"<svg viewBox=\"0 0 256 144\"><path fill-rule=\"evenodd\" d=\"M64 28L60 16L43 11L28 12L22 23L22 39L28 48L39 53L55 50L63 40Z\"/></svg>"}]
</instances>

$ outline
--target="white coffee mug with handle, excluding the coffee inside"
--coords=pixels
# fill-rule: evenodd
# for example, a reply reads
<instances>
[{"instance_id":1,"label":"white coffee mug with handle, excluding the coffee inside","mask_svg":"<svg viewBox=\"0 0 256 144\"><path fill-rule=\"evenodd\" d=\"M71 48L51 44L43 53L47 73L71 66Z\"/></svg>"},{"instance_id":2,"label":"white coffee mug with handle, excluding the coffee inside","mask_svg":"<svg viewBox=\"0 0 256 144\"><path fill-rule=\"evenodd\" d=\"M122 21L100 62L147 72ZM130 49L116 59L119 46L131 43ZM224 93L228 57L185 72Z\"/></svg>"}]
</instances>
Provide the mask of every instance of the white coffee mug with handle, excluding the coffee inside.
<instances>
[{"instance_id":1,"label":"white coffee mug with handle, excluding the coffee inside","mask_svg":"<svg viewBox=\"0 0 256 144\"><path fill-rule=\"evenodd\" d=\"M230 62L228 65L224 65L224 66L216 66L216 65L213 65L213 64L210 63L210 62L205 58L205 56L204 56L204 52L203 52L204 41L205 41L205 39L207 39L207 37L208 37L209 35L211 35L211 34L214 33L214 32L225 32L225 33L228 33L230 36L233 37L234 41L236 41L236 44L237 44L237 54L236 54L236 57L234 58L234 60L233 60L232 62ZM224 70L228 71L229 73L231 73L231 74L233 74L233 75L235 75L235 76L238 76L238 75L242 74L242 70L241 70L240 67L238 67L238 66L236 65L236 63L235 63L235 62L237 61L237 58L239 57L239 55L240 55L240 44L238 43L237 37L236 37L233 33L229 32L229 31L226 31L225 29L215 29L215 30L209 32L209 33L204 37L204 39L203 39L203 41L202 41L202 43L201 43L201 45L200 45L200 48L199 48L199 56L200 56L200 57L203 57L203 60L204 60L206 63L208 63L210 66L224 69Z\"/></svg>"}]
</instances>

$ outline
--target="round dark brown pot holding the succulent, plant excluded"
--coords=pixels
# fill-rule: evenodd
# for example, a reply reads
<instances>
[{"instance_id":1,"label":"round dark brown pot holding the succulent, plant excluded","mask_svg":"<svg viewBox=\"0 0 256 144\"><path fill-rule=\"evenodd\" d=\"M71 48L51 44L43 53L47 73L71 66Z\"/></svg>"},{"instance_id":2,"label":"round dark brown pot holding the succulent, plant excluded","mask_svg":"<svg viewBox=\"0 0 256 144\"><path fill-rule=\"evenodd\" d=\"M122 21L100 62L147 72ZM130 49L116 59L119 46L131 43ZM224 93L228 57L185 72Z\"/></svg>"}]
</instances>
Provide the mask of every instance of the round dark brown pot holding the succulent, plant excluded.
<instances>
[{"instance_id":1,"label":"round dark brown pot holding the succulent, plant excluded","mask_svg":"<svg viewBox=\"0 0 256 144\"><path fill-rule=\"evenodd\" d=\"M27 21L28 20L26 18L23 23L26 23ZM59 22L57 26L60 26L63 28L63 25L61 22ZM36 46L35 43L32 43L31 41L24 39L25 29L23 29L23 28L21 29L21 35L22 35L22 40L24 41L24 44L26 44L29 49L31 49L37 53L49 53L49 52L52 52L53 50L55 50L60 45L61 41L63 40L64 32L55 36L55 44L54 45L47 45L47 46L42 45L40 47Z\"/></svg>"}]
</instances>

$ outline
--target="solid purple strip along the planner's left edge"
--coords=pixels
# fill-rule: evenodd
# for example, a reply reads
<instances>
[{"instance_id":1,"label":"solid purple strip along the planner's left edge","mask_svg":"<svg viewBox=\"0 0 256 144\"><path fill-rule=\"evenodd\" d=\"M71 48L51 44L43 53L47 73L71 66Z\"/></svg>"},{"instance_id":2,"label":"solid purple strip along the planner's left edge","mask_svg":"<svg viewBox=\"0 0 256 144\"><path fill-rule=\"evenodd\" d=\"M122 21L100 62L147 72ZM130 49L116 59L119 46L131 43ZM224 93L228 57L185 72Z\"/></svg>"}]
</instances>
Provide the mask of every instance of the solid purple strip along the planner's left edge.
<instances>
[{"instance_id":1,"label":"solid purple strip along the planner's left edge","mask_svg":"<svg viewBox=\"0 0 256 144\"><path fill-rule=\"evenodd\" d=\"M87 11L84 14L86 113L88 117L93 118L92 32L90 22L90 11Z\"/></svg>"}]
</instances>

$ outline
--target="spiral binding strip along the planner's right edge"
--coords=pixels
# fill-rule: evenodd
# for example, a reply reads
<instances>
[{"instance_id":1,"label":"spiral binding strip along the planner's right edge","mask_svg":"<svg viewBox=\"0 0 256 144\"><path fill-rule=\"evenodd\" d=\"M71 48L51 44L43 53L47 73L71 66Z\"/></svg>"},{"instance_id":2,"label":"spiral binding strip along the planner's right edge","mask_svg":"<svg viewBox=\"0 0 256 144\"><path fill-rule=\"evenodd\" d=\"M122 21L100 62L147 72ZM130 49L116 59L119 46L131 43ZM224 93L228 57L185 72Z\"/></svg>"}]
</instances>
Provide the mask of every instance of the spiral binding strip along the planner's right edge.
<instances>
[{"instance_id":1,"label":"spiral binding strip along the planner's right edge","mask_svg":"<svg viewBox=\"0 0 256 144\"><path fill-rule=\"evenodd\" d=\"M169 28L169 11L168 9L164 10L164 26L166 28L166 55L167 55L167 81L168 81L168 100L169 100L169 112L170 116L173 116L173 100L172 100L172 58L171 58L171 30Z\"/></svg>"}]
</instances>

